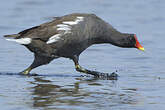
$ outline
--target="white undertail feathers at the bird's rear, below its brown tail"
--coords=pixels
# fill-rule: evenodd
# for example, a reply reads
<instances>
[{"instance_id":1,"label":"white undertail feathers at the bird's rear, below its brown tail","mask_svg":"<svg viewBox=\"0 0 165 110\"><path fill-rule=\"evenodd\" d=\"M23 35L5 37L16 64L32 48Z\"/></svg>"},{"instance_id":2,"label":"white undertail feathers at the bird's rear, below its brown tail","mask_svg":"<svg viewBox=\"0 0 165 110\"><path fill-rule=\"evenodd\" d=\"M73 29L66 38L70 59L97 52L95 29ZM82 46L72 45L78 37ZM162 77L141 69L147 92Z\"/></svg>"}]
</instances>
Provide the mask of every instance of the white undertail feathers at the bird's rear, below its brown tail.
<instances>
[{"instance_id":1,"label":"white undertail feathers at the bird's rear, below its brown tail","mask_svg":"<svg viewBox=\"0 0 165 110\"><path fill-rule=\"evenodd\" d=\"M27 44L30 44L32 39L31 38L20 38L20 39L6 39L8 41L14 41L14 42L17 42L19 44L24 44L24 45L27 45Z\"/></svg>"}]
</instances>

